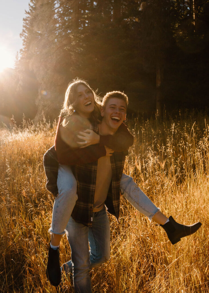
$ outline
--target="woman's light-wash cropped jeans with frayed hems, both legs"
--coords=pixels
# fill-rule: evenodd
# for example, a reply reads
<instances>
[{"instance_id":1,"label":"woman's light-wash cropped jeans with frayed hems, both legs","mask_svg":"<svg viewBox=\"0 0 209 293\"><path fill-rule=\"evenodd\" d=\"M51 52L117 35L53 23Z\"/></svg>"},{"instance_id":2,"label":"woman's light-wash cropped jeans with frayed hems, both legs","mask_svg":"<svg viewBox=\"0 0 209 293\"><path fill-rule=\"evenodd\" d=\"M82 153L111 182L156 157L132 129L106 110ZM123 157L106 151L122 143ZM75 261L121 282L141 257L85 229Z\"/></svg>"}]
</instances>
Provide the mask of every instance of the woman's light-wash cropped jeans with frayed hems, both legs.
<instances>
[{"instance_id":1,"label":"woman's light-wash cropped jeans with frayed hems, both legs","mask_svg":"<svg viewBox=\"0 0 209 293\"><path fill-rule=\"evenodd\" d=\"M57 177L58 196L54 200L50 233L65 234L66 225L77 200L77 182L70 166L59 165ZM150 220L159 211L153 202L137 186L133 178L122 174L121 194Z\"/></svg>"}]
</instances>

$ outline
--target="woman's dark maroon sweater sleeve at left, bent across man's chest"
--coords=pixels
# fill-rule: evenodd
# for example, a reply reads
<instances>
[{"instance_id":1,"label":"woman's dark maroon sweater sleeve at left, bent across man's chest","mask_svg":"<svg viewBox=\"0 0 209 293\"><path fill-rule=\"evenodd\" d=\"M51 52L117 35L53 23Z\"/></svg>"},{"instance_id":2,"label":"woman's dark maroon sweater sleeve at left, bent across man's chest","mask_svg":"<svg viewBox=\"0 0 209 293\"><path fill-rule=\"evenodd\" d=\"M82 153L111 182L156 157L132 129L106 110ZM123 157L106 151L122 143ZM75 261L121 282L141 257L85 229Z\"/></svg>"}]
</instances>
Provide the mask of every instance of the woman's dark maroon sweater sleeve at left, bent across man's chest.
<instances>
[{"instance_id":1,"label":"woman's dark maroon sweater sleeve at left, bent across man's chest","mask_svg":"<svg viewBox=\"0 0 209 293\"><path fill-rule=\"evenodd\" d=\"M62 118L60 117L55 137L55 149L60 164L75 165L91 163L97 161L100 157L106 156L106 149L102 144L90 145L83 149L70 147L61 137L61 122Z\"/></svg>"}]
</instances>

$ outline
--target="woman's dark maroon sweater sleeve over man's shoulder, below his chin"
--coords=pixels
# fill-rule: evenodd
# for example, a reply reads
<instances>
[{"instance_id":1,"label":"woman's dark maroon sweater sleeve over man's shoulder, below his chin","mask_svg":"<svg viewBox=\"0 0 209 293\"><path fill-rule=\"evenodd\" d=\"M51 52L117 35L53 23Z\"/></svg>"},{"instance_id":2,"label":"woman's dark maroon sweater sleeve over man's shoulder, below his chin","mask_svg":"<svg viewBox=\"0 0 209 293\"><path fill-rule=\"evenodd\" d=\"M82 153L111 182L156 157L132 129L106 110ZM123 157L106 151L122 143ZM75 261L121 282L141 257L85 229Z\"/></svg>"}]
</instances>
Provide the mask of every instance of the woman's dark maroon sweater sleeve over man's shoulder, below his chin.
<instances>
[{"instance_id":1,"label":"woman's dark maroon sweater sleeve over man's shoulder, below his chin","mask_svg":"<svg viewBox=\"0 0 209 293\"><path fill-rule=\"evenodd\" d=\"M100 144L114 151L126 151L134 143L134 137L128 127L122 123L114 135L100 135Z\"/></svg>"}]
</instances>

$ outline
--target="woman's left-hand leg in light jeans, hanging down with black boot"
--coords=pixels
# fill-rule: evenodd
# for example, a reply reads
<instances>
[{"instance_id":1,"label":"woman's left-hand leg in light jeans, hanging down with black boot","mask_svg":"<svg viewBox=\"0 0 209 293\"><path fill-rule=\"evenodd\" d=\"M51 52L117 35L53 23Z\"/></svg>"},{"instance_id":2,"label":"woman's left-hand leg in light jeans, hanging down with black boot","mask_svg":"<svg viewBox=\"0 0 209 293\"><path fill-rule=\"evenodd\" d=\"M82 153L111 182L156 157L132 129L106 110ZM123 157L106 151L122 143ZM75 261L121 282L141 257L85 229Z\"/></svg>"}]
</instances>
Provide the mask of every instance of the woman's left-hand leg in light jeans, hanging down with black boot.
<instances>
[{"instance_id":1,"label":"woman's left-hand leg in light jeans, hanging down with black boot","mask_svg":"<svg viewBox=\"0 0 209 293\"><path fill-rule=\"evenodd\" d=\"M57 177L58 196L53 205L51 244L48 252L46 276L53 286L58 286L61 281L59 264L59 244L70 215L77 200L77 183L69 166L59 165Z\"/></svg>"}]
</instances>

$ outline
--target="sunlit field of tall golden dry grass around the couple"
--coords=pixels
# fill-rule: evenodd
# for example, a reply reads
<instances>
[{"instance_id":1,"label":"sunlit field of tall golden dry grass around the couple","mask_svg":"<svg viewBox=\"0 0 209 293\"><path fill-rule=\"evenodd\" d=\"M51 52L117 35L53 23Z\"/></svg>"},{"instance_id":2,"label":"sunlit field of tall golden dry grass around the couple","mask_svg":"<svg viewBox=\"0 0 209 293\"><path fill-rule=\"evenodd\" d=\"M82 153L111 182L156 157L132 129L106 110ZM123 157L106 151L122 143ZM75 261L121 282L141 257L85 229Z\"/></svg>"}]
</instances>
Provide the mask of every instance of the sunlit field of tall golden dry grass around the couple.
<instances>
[{"instance_id":1,"label":"sunlit field of tall golden dry grass around the couple","mask_svg":"<svg viewBox=\"0 0 209 293\"><path fill-rule=\"evenodd\" d=\"M110 217L110 260L90 272L93 292L209 292L209 117L185 117L133 119L124 171L164 214L201 221L201 228L172 246L161 227L122 199L120 224ZM0 130L1 293L73 292L69 276L56 291L45 274L53 196L42 159L55 130L46 122ZM68 261L65 237L60 251L61 263Z\"/></svg>"}]
</instances>

